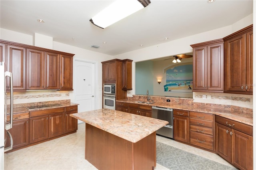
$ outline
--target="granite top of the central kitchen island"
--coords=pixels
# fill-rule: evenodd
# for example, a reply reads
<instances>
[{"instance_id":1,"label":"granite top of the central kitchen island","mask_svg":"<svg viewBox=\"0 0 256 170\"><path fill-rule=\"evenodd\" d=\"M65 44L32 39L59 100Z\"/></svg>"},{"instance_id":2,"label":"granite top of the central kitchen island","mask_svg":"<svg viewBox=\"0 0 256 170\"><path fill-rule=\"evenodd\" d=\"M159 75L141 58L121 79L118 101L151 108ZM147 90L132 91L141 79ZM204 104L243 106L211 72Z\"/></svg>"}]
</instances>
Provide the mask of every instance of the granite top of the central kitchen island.
<instances>
[{"instance_id":1,"label":"granite top of the central kitchen island","mask_svg":"<svg viewBox=\"0 0 256 170\"><path fill-rule=\"evenodd\" d=\"M74 113L70 116L133 143L168 124L160 119L110 109Z\"/></svg>"}]
</instances>

